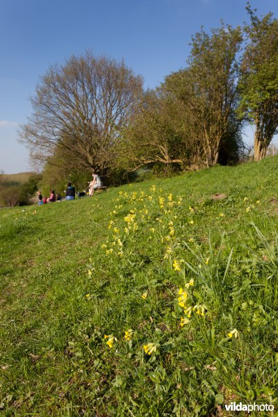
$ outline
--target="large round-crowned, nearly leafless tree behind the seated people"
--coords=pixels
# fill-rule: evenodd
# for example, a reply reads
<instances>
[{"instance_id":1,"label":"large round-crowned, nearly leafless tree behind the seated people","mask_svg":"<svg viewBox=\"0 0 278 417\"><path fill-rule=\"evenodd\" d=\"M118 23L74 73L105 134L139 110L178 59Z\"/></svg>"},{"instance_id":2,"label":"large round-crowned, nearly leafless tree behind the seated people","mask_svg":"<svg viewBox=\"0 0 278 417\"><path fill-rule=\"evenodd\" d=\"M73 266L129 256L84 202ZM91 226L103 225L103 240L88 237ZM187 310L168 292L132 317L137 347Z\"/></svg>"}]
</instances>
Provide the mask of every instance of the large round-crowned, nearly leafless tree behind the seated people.
<instances>
[{"instance_id":1,"label":"large round-crowned, nearly leafless tree behind the seated people","mask_svg":"<svg viewBox=\"0 0 278 417\"><path fill-rule=\"evenodd\" d=\"M142 78L124 62L106 57L72 56L49 68L31 99L33 114L19 140L33 159L44 163L57 147L74 167L105 172L113 147L142 95ZM59 151L60 152L60 151Z\"/></svg>"}]
</instances>

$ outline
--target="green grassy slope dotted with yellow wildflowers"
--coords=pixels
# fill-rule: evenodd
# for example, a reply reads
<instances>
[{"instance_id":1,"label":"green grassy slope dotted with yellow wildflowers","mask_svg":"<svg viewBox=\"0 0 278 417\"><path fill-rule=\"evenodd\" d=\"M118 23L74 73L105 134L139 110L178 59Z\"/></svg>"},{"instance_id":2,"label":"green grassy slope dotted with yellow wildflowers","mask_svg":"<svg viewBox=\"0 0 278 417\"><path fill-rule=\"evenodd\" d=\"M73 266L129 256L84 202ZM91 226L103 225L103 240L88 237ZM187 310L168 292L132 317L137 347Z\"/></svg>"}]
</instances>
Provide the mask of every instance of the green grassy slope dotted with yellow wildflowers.
<instances>
[{"instance_id":1,"label":"green grassy slope dotted with yellow wildflowers","mask_svg":"<svg viewBox=\"0 0 278 417\"><path fill-rule=\"evenodd\" d=\"M4 415L277 409L277 165L2 210Z\"/></svg>"}]
</instances>

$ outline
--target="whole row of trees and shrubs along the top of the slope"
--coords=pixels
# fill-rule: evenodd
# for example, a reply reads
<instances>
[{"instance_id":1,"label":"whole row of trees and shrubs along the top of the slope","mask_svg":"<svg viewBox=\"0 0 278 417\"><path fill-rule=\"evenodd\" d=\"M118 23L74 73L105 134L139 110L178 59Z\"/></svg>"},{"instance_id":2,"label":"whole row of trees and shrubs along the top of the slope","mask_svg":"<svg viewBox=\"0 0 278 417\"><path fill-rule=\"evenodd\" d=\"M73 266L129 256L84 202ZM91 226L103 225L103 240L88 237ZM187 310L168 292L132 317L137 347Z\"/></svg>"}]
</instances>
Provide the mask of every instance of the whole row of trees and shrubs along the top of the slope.
<instances>
[{"instance_id":1,"label":"whole row of trees and shrubs along the top of the slope","mask_svg":"<svg viewBox=\"0 0 278 417\"><path fill-rule=\"evenodd\" d=\"M51 66L20 136L44 186L84 188L92 168L117 184L138 172L235 164L247 155L247 123L254 160L264 158L278 126L278 22L249 4L247 15L244 27L193 35L186 66L154 90L123 61L90 52Z\"/></svg>"}]
</instances>

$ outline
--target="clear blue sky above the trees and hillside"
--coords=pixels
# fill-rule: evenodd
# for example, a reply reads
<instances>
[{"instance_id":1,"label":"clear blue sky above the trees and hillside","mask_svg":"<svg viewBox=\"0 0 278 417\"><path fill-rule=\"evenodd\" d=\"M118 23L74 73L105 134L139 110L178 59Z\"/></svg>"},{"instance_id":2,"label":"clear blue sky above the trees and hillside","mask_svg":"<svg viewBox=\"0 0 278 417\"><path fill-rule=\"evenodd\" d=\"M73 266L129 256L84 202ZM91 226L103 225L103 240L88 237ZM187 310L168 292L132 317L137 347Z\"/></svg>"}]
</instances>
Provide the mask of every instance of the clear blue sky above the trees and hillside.
<instances>
[{"instance_id":1,"label":"clear blue sky above the trees and hillside","mask_svg":"<svg viewBox=\"0 0 278 417\"><path fill-rule=\"evenodd\" d=\"M277 0L253 0L259 15L277 16ZM121 60L154 88L186 65L190 37L220 19L247 20L244 0L0 0L0 170L30 169L17 142L31 114L29 97L49 66L72 54L105 54ZM251 129L247 131L248 136Z\"/></svg>"}]
</instances>

